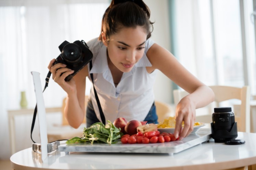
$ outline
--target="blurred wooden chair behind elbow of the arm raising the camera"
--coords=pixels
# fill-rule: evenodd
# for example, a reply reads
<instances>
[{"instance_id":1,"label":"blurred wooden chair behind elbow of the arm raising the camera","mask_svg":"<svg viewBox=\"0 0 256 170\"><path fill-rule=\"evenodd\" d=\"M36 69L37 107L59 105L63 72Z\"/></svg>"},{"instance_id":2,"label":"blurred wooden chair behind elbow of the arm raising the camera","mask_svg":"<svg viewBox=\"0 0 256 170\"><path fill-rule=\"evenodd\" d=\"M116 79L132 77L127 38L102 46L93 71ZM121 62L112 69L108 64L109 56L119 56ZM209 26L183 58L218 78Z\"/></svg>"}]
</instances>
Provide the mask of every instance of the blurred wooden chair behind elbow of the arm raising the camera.
<instances>
[{"instance_id":1,"label":"blurred wooden chair behind elbow of the arm raising the camera","mask_svg":"<svg viewBox=\"0 0 256 170\"><path fill-rule=\"evenodd\" d=\"M85 108L87 107L88 96L85 96ZM83 123L77 129L71 127L65 116L64 108L66 106L66 98L63 99L61 112L62 112L62 124L59 126L54 126L47 132L48 142L61 140L61 139L71 139L73 137L81 137L84 127L86 127L86 118L84 118Z\"/></svg>"}]
</instances>

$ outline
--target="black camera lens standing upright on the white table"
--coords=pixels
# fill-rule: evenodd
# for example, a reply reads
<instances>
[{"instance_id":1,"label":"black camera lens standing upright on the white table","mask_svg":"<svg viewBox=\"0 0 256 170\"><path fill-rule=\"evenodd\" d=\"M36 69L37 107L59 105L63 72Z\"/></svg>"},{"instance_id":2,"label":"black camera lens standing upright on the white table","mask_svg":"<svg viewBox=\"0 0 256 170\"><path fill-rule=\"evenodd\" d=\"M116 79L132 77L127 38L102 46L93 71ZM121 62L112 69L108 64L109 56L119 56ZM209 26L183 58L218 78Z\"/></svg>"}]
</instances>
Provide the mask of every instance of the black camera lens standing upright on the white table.
<instances>
[{"instance_id":1,"label":"black camera lens standing upright on the white table","mask_svg":"<svg viewBox=\"0 0 256 170\"><path fill-rule=\"evenodd\" d=\"M212 119L212 138L215 142L223 143L238 137L237 123L231 107L214 108Z\"/></svg>"}]
</instances>

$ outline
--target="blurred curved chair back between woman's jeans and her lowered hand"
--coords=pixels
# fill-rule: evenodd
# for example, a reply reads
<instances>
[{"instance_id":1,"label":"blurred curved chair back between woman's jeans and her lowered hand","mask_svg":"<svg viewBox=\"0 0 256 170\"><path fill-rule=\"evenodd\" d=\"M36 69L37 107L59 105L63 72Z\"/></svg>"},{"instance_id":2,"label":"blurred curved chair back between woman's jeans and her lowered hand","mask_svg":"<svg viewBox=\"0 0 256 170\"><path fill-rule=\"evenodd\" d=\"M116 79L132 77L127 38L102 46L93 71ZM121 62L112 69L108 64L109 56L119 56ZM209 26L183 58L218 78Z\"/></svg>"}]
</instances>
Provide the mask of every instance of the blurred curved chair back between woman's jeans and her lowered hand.
<instances>
[{"instance_id":1,"label":"blurred curved chair back between woman's jeans and her lowered hand","mask_svg":"<svg viewBox=\"0 0 256 170\"><path fill-rule=\"evenodd\" d=\"M158 122L163 122L164 119L168 119L170 116L175 116L173 109L168 104L155 101L155 106Z\"/></svg>"}]
</instances>

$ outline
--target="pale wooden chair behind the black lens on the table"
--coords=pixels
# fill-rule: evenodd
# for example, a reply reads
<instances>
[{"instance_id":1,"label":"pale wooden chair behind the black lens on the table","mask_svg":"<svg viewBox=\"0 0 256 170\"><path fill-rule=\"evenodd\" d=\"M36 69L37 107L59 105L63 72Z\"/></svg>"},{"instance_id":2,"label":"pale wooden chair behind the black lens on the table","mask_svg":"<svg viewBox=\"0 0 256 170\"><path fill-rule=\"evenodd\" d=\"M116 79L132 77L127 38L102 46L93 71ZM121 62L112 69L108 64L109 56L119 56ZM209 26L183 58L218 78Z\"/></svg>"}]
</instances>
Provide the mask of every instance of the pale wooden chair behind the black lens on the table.
<instances>
[{"instance_id":1,"label":"pale wooden chair behind the black lens on the table","mask_svg":"<svg viewBox=\"0 0 256 170\"><path fill-rule=\"evenodd\" d=\"M213 103L206 106L205 115L196 116L196 121L203 120L202 122L210 123L212 122L212 113L214 112L214 107L219 107L220 103L224 101L229 101L230 99L239 99L241 104L234 104L232 111L235 114L235 121L238 122L238 131L240 132L250 132L250 88L249 86L244 86L242 88L231 87L231 86L209 86L215 94L215 105ZM175 106L179 101L189 93L181 90L174 90L174 103ZM230 106L230 105L229 105ZM225 107L229 107L225 106ZM232 106L231 106L232 107ZM197 114L196 109L196 114ZM202 118L202 119L200 119Z\"/></svg>"}]
</instances>

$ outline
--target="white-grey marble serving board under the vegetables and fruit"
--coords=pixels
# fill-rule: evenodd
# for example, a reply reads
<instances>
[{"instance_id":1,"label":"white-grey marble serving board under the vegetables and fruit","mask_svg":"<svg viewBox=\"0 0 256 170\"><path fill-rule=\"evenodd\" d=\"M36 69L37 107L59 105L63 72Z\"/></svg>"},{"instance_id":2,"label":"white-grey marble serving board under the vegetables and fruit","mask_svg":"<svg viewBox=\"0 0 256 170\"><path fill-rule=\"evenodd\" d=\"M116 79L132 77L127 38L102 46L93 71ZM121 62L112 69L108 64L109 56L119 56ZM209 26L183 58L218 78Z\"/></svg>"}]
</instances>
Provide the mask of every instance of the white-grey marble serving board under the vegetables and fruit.
<instances>
[{"instance_id":1,"label":"white-grey marble serving board under the vegetables and fruit","mask_svg":"<svg viewBox=\"0 0 256 170\"><path fill-rule=\"evenodd\" d=\"M196 134L189 135L182 141L149 144L122 144L120 141L115 144L106 143L78 143L61 144L58 146L60 152L109 152L109 153L169 153L174 154L191 148L197 144L208 141L211 130L201 128Z\"/></svg>"}]
</instances>

